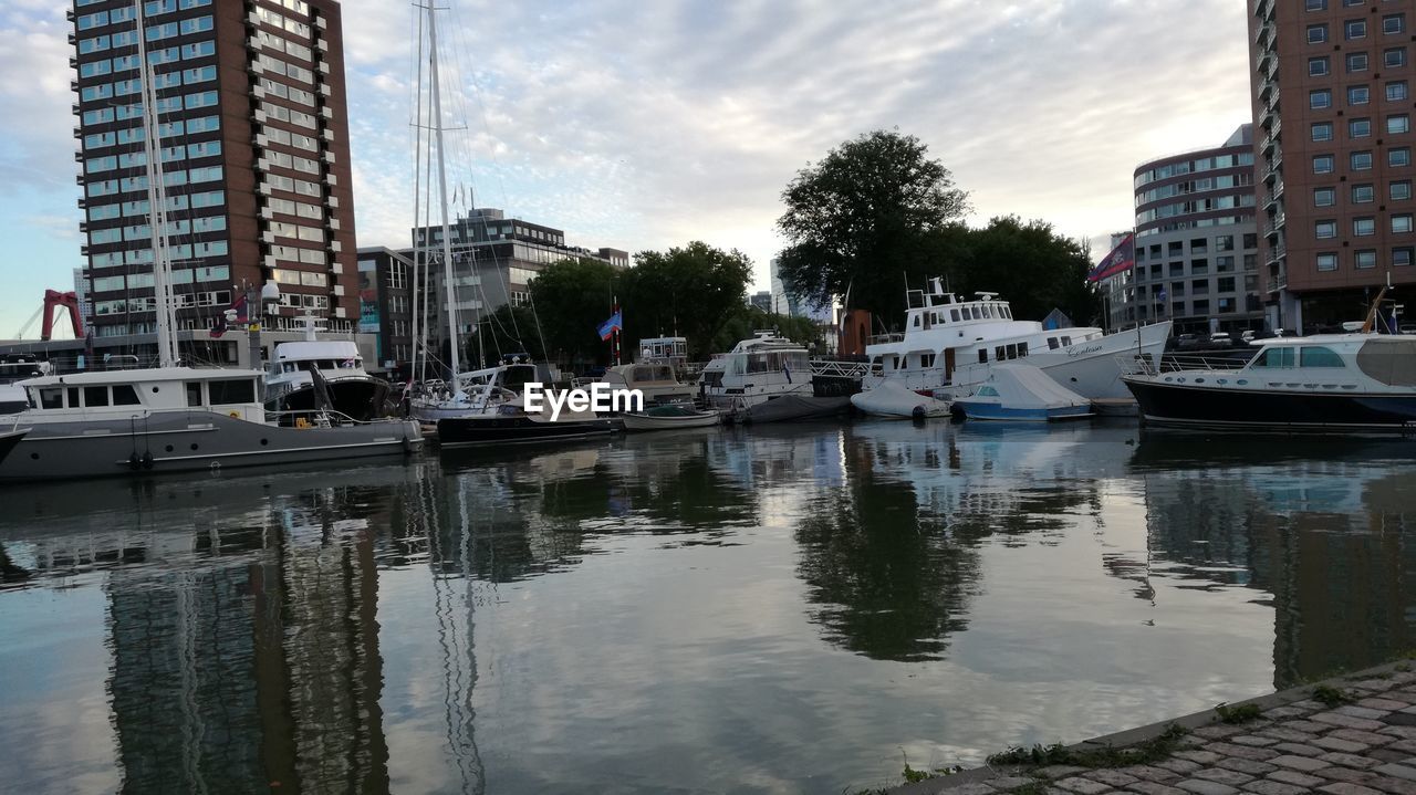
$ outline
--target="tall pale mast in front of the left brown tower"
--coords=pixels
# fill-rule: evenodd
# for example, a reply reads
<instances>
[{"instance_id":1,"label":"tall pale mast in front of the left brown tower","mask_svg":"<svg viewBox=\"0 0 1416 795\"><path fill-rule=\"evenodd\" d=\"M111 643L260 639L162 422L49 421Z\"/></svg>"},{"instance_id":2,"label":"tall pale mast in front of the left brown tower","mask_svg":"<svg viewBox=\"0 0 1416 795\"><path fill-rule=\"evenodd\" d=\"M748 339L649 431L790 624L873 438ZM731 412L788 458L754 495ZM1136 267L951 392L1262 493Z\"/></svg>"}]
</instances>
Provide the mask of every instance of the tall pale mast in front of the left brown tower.
<instances>
[{"instance_id":1,"label":"tall pale mast in front of the left brown tower","mask_svg":"<svg viewBox=\"0 0 1416 795\"><path fill-rule=\"evenodd\" d=\"M143 98L143 154L147 158L147 221L152 228L153 293L157 310L157 362L177 365L176 318L173 317L171 262L167 253L167 187L163 181L163 146L157 129L157 88L153 64L147 61L147 35L143 30L143 0L133 0L137 20L137 75Z\"/></svg>"}]
</instances>

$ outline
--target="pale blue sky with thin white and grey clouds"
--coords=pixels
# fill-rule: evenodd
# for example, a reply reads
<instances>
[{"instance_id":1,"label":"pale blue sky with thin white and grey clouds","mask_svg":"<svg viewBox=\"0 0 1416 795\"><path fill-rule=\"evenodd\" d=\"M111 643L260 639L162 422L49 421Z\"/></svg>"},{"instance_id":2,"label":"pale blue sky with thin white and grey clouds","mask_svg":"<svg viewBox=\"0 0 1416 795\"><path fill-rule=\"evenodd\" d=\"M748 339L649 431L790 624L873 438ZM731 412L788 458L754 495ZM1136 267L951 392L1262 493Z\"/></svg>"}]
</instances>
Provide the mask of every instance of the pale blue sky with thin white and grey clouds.
<instances>
[{"instance_id":1,"label":"pale blue sky with thin white and grey clouds","mask_svg":"<svg viewBox=\"0 0 1416 795\"><path fill-rule=\"evenodd\" d=\"M455 211L470 195L590 249L739 249L756 289L784 245L782 190L861 133L919 137L969 191L969 224L1044 219L1100 259L1133 224L1140 163L1219 146L1250 115L1238 0L439 6ZM82 265L67 7L0 7L0 340ZM357 240L406 246L413 11L343 16Z\"/></svg>"}]
</instances>

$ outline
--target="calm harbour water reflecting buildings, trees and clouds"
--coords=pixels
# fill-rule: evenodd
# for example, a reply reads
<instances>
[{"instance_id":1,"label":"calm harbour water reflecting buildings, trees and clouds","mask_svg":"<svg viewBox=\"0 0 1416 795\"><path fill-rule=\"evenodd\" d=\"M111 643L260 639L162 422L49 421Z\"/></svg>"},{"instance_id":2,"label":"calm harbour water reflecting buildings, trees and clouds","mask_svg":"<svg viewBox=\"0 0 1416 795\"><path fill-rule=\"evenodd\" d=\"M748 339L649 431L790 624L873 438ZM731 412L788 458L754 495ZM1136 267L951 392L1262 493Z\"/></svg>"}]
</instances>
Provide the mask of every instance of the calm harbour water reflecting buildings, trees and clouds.
<instances>
[{"instance_id":1,"label":"calm harbour water reflecting buildings, trees and clouds","mask_svg":"<svg viewBox=\"0 0 1416 795\"><path fill-rule=\"evenodd\" d=\"M1416 443L868 422L7 488L16 792L841 792L1416 646Z\"/></svg>"}]
</instances>

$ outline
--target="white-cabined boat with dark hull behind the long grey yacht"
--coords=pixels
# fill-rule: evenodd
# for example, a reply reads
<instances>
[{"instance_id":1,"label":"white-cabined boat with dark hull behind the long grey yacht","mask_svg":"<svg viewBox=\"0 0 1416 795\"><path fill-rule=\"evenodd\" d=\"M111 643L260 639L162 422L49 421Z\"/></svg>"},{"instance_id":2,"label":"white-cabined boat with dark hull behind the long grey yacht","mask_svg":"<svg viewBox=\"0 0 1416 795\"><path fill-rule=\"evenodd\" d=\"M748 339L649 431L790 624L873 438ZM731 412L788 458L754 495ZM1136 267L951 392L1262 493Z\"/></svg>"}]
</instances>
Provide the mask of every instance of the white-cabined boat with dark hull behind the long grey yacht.
<instances>
[{"instance_id":1,"label":"white-cabined boat with dark hull behind the long grey yacht","mask_svg":"<svg viewBox=\"0 0 1416 795\"><path fill-rule=\"evenodd\" d=\"M316 332L324 330L314 325L316 318L296 320L304 327L304 340L275 347L266 375L266 407L287 413L324 407L354 420L384 416L389 385L364 369L358 345L351 340L319 340Z\"/></svg>"}]
</instances>

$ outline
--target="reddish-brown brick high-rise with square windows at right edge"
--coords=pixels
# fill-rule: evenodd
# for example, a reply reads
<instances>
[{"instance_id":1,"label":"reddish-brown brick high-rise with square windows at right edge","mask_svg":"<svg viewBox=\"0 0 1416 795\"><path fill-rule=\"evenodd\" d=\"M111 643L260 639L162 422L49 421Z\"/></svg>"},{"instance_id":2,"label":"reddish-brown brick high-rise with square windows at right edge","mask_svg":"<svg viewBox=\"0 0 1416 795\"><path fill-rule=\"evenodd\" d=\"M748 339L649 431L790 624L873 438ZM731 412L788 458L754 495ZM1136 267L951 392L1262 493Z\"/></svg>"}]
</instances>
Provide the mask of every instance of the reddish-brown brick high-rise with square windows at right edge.
<instances>
[{"instance_id":1,"label":"reddish-brown brick high-rise with square windows at right edge","mask_svg":"<svg viewBox=\"0 0 1416 795\"><path fill-rule=\"evenodd\" d=\"M1412 3L1246 0L1269 320L1361 320L1416 283Z\"/></svg>"}]
</instances>

